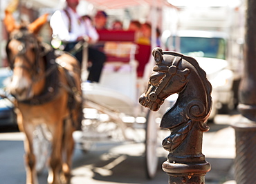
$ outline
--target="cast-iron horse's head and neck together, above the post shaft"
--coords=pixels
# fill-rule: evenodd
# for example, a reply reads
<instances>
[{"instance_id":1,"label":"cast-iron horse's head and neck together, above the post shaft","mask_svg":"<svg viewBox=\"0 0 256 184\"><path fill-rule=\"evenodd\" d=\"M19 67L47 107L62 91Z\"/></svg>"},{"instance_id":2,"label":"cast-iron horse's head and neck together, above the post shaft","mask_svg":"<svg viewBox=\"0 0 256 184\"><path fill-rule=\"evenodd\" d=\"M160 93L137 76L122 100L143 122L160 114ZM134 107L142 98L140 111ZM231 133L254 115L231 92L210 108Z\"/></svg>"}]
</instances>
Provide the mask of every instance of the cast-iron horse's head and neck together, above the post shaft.
<instances>
[{"instance_id":1,"label":"cast-iron horse's head and neck together, above the post shaft","mask_svg":"<svg viewBox=\"0 0 256 184\"><path fill-rule=\"evenodd\" d=\"M172 115L180 120L205 121L212 105L212 86L196 60L177 52L163 52L161 48L155 48L152 54L156 65L145 92L140 96L140 104L156 111L168 96L178 93Z\"/></svg>"}]
</instances>

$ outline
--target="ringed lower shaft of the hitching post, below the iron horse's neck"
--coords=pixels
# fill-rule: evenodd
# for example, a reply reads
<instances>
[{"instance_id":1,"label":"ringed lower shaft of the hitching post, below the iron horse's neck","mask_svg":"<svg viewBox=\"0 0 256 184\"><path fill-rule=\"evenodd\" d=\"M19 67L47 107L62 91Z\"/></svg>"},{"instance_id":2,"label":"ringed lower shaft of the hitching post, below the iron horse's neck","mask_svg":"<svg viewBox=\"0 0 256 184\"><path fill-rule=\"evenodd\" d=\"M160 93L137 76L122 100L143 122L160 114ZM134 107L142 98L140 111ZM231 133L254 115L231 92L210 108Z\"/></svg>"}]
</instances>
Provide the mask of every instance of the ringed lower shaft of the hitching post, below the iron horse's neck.
<instances>
[{"instance_id":1,"label":"ringed lower shaft of the hitching post, below the iron horse's neck","mask_svg":"<svg viewBox=\"0 0 256 184\"><path fill-rule=\"evenodd\" d=\"M169 175L169 184L204 184L205 174L210 171L210 163L205 161L202 150L203 132L193 123L188 137L175 152L170 152L162 165ZM165 144L165 143L163 143Z\"/></svg>"}]
</instances>

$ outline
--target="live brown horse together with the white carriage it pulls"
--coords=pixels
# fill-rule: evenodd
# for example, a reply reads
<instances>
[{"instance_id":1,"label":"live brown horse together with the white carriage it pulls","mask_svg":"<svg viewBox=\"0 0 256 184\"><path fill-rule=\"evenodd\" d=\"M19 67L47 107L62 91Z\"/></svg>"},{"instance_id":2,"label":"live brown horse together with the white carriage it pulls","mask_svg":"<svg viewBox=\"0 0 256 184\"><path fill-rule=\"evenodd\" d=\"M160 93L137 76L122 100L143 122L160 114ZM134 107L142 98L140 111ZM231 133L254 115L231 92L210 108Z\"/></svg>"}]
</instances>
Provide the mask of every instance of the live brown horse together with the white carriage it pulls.
<instances>
[{"instance_id":1,"label":"live brown horse together with the white carriage it pulls","mask_svg":"<svg viewBox=\"0 0 256 184\"><path fill-rule=\"evenodd\" d=\"M145 82L143 77L140 80L137 78L138 63L135 57L140 56L136 55L134 38L105 42L105 46L109 46L106 50L121 47L122 51L128 52L120 54L116 51L120 54L119 59L123 60L108 61L98 85L86 82L80 85L81 74L75 59L69 54L57 54L56 57L52 49L37 38L37 32L46 17L39 17L25 26L17 25L9 12L6 12L5 19L10 34L6 47L8 61L13 70L12 83L8 89L15 95L19 128L26 134L27 183L37 183L37 172L44 168L47 158L50 159L48 183L70 181L75 144L72 134L81 119L81 111L84 112L84 139L80 143L84 150L88 149L88 142L95 140L93 131L97 136L107 133L108 137L109 132L119 135L117 131L120 131L122 140L136 141L131 139L135 136L127 136L127 127L131 130L142 127L145 135L140 141L145 141L146 145L147 176L153 178L158 163L156 146L160 143L156 140L157 122L160 123L157 114L161 111L146 112L138 104L138 94L142 93ZM117 56L112 58L115 57L118 59ZM113 134L111 136L117 138ZM52 150L48 152L50 145Z\"/></svg>"}]
</instances>

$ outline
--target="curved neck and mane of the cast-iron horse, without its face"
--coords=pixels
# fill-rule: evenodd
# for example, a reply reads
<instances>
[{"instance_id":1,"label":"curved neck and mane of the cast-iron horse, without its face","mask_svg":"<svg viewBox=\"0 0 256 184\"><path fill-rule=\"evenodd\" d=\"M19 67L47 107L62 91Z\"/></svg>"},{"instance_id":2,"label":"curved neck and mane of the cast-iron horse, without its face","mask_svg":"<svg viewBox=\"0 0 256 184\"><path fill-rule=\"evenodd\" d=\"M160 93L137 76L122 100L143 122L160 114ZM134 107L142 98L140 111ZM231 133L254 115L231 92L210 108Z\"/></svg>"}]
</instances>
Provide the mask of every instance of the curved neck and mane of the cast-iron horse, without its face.
<instances>
[{"instance_id":1,"label":"curved neck and mane of the cast-iron horse, without its face","mask_svg":"<svg viewBox=\"0 0 256 184\"><path fill-rule=\"evenodd\" d=\"M158 57L158 50L154 50L154 57ZM163 116L161 127L171 128L179 125L179 123L192 121L200 121L205 123L210 115L212 98L212 85L206 78L206 73L200 68L199 64L192 57L184 56L176 52L163 52L166 59L157 63L158 68L154 71L161 71L162 67L170 67L174 70L172 75L177 74L181 79L183 88L180 88L176 93L179 97L175 105L168 110ZM176 87L179 85L176 85ZM176 88L175 87L175 88ZM169 94L170 95L170 94ZM172 123L166 123L172 122Z\"/></svg>"}]
</instances>

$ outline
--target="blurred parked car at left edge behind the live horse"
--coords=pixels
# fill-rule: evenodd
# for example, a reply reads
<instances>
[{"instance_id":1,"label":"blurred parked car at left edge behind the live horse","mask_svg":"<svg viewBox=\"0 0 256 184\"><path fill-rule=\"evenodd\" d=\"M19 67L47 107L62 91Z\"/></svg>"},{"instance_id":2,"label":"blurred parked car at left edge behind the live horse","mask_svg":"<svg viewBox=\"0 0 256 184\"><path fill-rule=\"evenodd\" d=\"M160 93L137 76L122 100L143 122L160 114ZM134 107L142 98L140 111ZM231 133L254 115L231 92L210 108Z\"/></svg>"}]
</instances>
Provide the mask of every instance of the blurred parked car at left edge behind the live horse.
<instances>
[{"instance_id":1,"label":"blurred parked car at left edge behind the live horse","mask_svg":"<svg viewBox=\"0 0 256 184\"><path fill-rule=\"evenodd\" d=\"M15 114L14 105L10 101L13 96L5 91L6 84L10 81L11 76L12 71L9 68L0 68L0 94L8 96L8 99L0 96L0 127L17 125L17 116Z\"/></svg>"}]
</instances>

